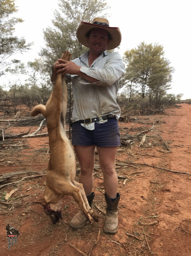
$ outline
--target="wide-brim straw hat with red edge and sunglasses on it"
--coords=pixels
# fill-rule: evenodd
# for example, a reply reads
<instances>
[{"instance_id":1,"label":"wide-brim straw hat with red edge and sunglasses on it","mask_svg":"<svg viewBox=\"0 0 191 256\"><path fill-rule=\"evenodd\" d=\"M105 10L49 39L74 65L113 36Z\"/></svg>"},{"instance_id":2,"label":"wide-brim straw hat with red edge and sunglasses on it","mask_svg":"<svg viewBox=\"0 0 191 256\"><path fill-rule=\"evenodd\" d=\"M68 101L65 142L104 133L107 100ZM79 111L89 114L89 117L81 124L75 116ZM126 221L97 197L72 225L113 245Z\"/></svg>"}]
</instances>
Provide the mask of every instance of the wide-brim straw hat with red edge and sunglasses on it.
<instances>
[{"instance_id":1,"label":"wide-brim straw hat with red edge and sunglasses on it","mask_svg":"<svg viewBox=\"0 0 191 256\"><path fill-rule=\"evenodd\" d=\"M107 45L107 50L114 49L121 43L121 32L119 28L109 27L109 21L105 18L94 18L92 23L82 21L76 32L78 41L81 44L89 47L88 38L86 34L89 30L94 28L105 29L111 35L111 40Z\"/></svg>"}]
</instances>

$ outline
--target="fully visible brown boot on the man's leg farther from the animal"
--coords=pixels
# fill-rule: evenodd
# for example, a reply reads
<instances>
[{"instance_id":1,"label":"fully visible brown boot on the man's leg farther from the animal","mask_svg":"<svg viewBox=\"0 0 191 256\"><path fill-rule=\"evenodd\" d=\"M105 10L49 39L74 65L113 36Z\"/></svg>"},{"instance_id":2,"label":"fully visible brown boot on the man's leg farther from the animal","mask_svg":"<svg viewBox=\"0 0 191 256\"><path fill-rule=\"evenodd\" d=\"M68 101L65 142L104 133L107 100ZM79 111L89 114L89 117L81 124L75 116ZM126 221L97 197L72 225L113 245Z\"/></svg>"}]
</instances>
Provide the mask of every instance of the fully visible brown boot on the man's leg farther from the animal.
<instances>
[{"instance_id":1,"label":"fully visible brown boot on the man's leg farther from the animal","mask_svg":"<svg viewBox=\"0 0 191 256\"><path fill-rule=\"evenodd\" d=\"M112 201L111 198L105 193L105 201L107 204L106 207L106 220L105 226L103 228L104 232L106 233L116 233L118 227L118 202L120 199L120 194L117 193L117 198L115 201Z\"/></svg>"}]
</instances>

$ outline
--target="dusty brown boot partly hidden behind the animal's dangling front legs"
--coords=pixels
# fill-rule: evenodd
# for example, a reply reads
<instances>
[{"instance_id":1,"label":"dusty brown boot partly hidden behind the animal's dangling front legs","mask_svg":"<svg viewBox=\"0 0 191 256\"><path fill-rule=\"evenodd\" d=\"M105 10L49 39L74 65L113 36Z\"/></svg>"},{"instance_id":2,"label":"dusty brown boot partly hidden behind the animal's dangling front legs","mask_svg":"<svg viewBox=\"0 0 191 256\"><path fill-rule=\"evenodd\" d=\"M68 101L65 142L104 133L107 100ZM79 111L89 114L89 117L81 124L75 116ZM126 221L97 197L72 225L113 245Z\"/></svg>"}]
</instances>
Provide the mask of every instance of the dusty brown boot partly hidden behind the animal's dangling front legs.
<instances>
[{"instance_id":1,"label":"dusty brown boot partly hidden behind the animal's dangling front legs","mask_svg":"<svg viewBox=\"0 0 191 256\"><path fill-rule=\"evenodd\" d=\"M95 193L92 192L91 195L86 196L89 206L92 206L92 201L94 199ZM76 215L74 215L74 217L71 219L69 225L71 227L73 227L74 229L80 229L81 227L83 227L85 225L87 218L86 216L83 214L83 212L80 210L78 213L76 213Z\"/></svg>"}]
</instances>

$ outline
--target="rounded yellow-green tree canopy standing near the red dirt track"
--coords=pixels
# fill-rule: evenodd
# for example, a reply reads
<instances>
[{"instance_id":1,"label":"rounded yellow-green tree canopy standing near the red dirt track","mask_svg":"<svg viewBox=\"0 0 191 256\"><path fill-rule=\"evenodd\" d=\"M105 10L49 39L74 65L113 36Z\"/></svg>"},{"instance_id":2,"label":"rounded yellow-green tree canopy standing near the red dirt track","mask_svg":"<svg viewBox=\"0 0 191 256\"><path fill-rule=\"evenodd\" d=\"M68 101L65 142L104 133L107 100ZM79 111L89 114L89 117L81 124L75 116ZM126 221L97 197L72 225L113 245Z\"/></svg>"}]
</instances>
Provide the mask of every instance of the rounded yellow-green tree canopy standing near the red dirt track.
<instances>
[{"instance_id":1,"label":"rounded yellow-green tree canopy standing near the red dirt track","mask_svg":"<svg viewBox=\"0 0 191 256\"><path fill-rule=\"evenodd\" d=\"M160 104L160 98L170 89L173 67L164 58L162 45L141 42L137 48L127 50L124 54L127 64L123 78L130 90L136 89L141 97L149 97L149 103L155 98Z\"/></svg>"}]
</instances>

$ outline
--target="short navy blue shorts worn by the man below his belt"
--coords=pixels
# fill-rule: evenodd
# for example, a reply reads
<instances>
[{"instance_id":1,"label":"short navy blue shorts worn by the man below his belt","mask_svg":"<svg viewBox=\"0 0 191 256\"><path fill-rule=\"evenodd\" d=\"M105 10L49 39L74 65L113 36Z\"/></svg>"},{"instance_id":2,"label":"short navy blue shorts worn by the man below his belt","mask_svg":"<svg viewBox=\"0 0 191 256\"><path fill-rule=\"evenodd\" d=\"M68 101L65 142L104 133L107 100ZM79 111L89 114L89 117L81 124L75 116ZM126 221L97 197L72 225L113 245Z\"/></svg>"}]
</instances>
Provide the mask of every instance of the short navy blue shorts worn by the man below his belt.
<instances>
[{"instance_id":1,"label":"short navy blue shorts worn by the man below his belt","mask_svg":"<svg viewBox=\"0 0 191 256\"><path fill-rule=\"evenodd\" d=\"M119 126L116 118L106 123L95 123L94 130L87 130L80 123L72 125L72 145L117 147L120 144Z\"/></svg>"}]
</instances>

